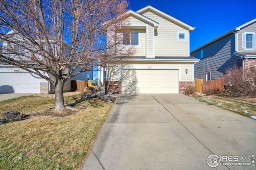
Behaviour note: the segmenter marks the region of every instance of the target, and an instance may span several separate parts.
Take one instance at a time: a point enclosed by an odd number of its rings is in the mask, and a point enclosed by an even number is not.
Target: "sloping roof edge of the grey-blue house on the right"
[[[218,36],[217,38],[213,39],[212,41],[209,41],[208,43],[205,43],[204,45],[201,45],[200,47],[198,47],[198,48],[194,49],[193,51],[191,51],[190,54],[198,51],[199,49],[204,48],[207,45],[210,45],[210,44],[214,43],[215,41],[218,41],[219,39],[221,39],[221,38],[223,38],[223,37],[225,37],[225,36],[227,36],[227,35],[229,35],[231,33],[235,33],[235,31],[240,31],[242,28],[247,27],[248,25],[250,25],[250,24],[252,24],[254,22],[256,22],[256,18],[251,20],[251,21],[249,21],[249,22],[244,23],[243,25],[240,25],[239,27],[235,27],[235,28],[231,29],[230,31],[228,31],[228,32]]]

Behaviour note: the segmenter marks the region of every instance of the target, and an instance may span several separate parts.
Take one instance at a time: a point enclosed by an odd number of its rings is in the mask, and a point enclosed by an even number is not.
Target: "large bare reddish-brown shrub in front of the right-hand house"
[[[226,88],[240,96],[256,97],[256,68],[237,68],[236,66],[226,69]]]

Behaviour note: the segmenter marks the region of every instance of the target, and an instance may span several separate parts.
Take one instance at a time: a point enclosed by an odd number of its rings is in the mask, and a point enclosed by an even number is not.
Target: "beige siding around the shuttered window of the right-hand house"
[[[254,50],[244,50],[242,49],[242,33],[244,32],[254,32],[256,33],[256,22],[252,23],[248,27],[242,28],[240,31],[238,31],[238,52],[240,53],[255,53],[256,49]]]

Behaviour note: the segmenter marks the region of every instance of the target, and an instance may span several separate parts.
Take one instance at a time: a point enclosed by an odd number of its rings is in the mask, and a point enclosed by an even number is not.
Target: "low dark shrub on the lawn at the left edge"
[[[3,119],[0,119],[0,124],[2,123],[8,123],[11,121],[20,121],[26,119],[29,115],[20,114],[18,111],[8,111],[5,113],[2,113]]]

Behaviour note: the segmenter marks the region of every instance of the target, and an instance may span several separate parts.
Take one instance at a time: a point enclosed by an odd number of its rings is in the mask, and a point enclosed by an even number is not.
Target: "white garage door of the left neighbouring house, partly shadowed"
[[[40,93],[40,82],[28,72],[0,72],[1,93]]]

